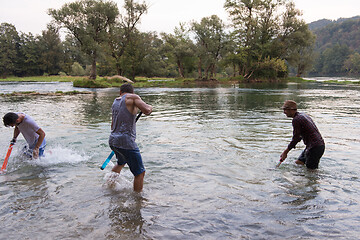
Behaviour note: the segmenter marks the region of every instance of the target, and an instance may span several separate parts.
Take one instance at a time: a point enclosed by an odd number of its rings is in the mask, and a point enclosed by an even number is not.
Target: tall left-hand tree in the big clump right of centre
[[[243,77],[250,78],[269,52],[269,40],[274,38],[277,29],[276,7],[281,4],[271,0],[225,1],[224,7],[235,29],[233,34],[239,39],[237,55]]]

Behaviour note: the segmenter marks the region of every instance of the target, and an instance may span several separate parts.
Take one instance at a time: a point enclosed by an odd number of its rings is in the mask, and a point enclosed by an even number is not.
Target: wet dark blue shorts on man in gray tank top
[[[127,164],[134,176],[145,172],[145,167],[142,162],[140,150],[138,148],[122,149],[114,146],[110,146],[110,148],[115,152],[118,165],[121,166]]]

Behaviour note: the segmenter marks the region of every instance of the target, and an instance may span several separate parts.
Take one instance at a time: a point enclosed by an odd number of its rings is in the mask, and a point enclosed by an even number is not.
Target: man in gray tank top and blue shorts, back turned
[[[145,168],[140,150],[135,143],[136,139],[136,114],[140,110],[145,115],[150,115],[152,106],[146,104],[138,95],[134,94],[131,84],[120,87],[120,97],[114,100],[111,107],[112,121],[109,137],[110,148],[115,152],[117,165],[112,171],[120,173],[128,164],[134,175],[134,191],[141,192],[144,184]]]

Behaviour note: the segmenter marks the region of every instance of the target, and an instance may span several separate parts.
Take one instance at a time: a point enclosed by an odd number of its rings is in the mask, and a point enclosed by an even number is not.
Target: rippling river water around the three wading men
[[[23,84],[23,85],[21,85]],[[71,83],[1,83],[2,93],[72,91]],[[80,89],[82,90],[82,89]],[[125,167],[109,185],[107,139],[118,89],[71,96],[0,96],[47,134],[46,156],[22,157],[19,136],[0,174],[0,239],[357,239],[360,87],[326,83],[143,88],[153,105],[137,123],[146,167],[132,191]],[[326,152],[316,171],[296,166],[299,143],[280,107],[299,103]],[[0,128],[1,164],[12,128]],[[114,161],[114,159],[113,159]]]

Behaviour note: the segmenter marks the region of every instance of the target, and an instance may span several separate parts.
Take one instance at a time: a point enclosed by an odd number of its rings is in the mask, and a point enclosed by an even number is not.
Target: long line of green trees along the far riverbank
[[[141,32],[147,3],[79,0],[49,9],[41,35],[0,25],[0,76],[122,75],[213,79],[278,78],[311,67],[314,35],[289,0],[226,0],[232,25],[216,15],[173,33]],[[68,34],[61,40],[59,29]]]

